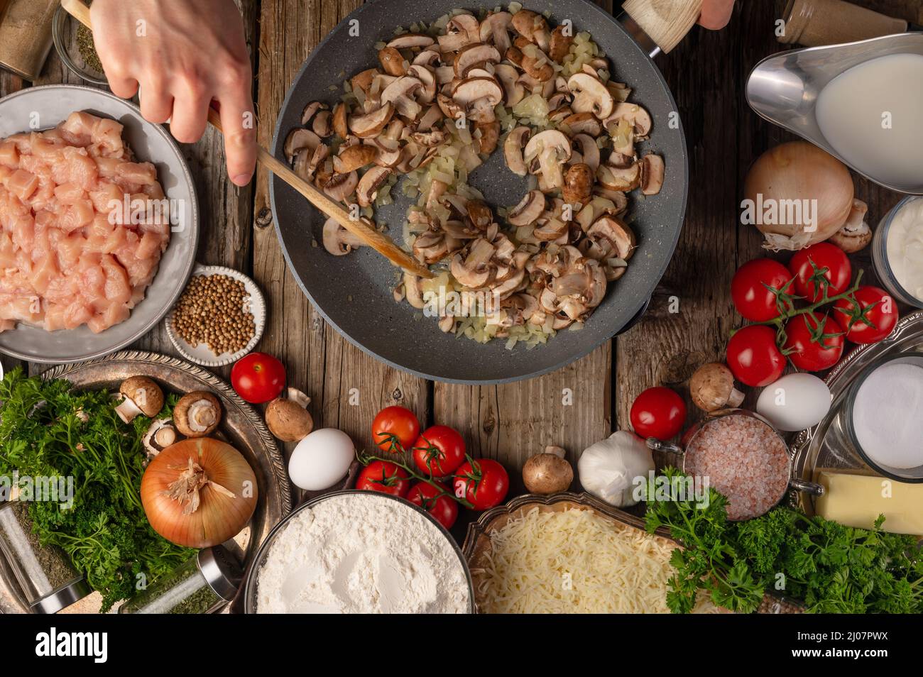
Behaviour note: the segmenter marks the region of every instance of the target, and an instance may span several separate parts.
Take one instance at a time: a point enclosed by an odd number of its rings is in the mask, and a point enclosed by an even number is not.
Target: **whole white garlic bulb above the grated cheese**
[[[617,507],[638,503],[635,478],[647,481],[651,470],[651,450],[641,437],[625,430],[590,445],[577,462],[583,489]]]

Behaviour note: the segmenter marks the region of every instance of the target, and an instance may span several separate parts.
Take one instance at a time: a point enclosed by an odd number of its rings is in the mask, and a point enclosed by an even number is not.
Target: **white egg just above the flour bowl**
[[[321,428],[294,447],[289,477],[308,492],[328,489],[341,481],[355,457],[353,440],[336,428]]]

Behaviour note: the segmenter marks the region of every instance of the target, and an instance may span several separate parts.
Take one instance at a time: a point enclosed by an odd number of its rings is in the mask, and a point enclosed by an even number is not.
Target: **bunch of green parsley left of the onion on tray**
[[[191,555],[151,529],[141,505],[150,419],[126,425],[105,390],[76,390],[21,369],[0,381],[0,402],[0,475],[74,478],[73,507],[34,501],[30,517],[42,544],[62,548],[102,593],[103,611]]]

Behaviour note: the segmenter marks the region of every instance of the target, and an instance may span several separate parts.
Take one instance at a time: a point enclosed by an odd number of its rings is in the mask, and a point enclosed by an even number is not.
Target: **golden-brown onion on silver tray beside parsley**
[[[257,507],[257,477],[233,446],[210,437],[163,449],[141,478],[150,526],[187,548],[233,538]]]

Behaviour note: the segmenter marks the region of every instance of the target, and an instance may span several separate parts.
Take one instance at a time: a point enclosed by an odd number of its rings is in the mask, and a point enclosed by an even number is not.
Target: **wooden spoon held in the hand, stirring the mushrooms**
[[[76,18],[80,23],[91,29],[90,26],[90,7],[84,5],[80,0],[61,0],[68,14]],[[223,133],[222,120],[215,109],[209,109],[209,122],[219,132]],[[365,221],[353,220],[349,212],[342,205],[334,202],[330,197],[325,196],[312,184],[307,183],[303,178],[298,176],[289,167],[282,164],[270,153],[269,150],[261,146],[257,147],[257,159],[270,172],[278,176],[286,184],[291,185],[296,191],[307,198],[307,201],[320,209],[327,216],[336,219],[347,231],[352,232],[357,238],[362,240],[368,246],[372,247],[378,254],[383,255],[392,264],[402,267],[404,270],[414,273],[421,278],[432,278],[433,273],[429,268],[417,261],[412,255],[401,249],[388,235],[378,232],[374,228],[366,225]]]

